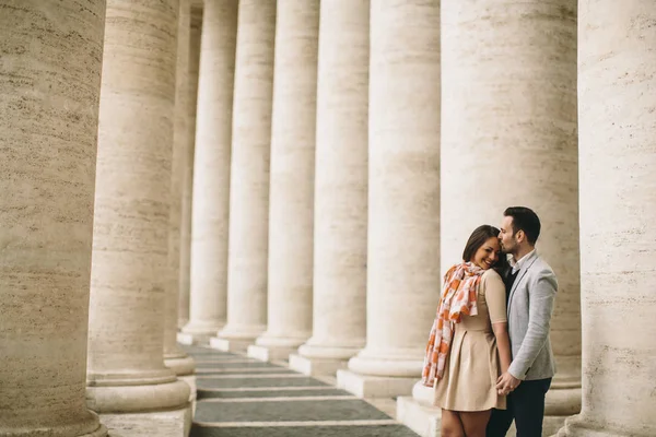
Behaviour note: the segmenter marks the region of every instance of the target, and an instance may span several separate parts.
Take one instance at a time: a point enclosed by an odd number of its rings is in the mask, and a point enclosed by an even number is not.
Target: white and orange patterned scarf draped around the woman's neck
[[[454,323],[459,323],[462,315],[478,315],[476,296],[483,272],[484,270],[480,267],[465,262],[452,267],[444,275],[442,297],[431,328],[421,375],[424,386],[433,387],[435,380],[440,380],[444,376]]]

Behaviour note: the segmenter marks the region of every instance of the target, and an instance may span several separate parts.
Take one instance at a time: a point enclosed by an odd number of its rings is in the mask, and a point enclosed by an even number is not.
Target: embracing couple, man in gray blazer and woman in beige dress
[[[473,231],[445,274],[422,374],[442,437],[503,437],[513,421],[517,437],[542,435],[558,283],[535,250],[539,235],[534,211],[508,208],[500,229]]]

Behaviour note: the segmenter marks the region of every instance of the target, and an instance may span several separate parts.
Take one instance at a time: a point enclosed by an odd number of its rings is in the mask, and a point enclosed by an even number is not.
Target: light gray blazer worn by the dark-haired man
[[[555,374],[549,328],[557,290],[553,270],[537,251],[522,261],[508,296],[508,334],[513,351],[508,371],[515,378],[546,379]]]

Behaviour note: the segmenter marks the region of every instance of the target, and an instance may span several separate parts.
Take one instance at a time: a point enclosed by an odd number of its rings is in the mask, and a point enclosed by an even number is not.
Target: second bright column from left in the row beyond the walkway
[[[269,156],[276,1],[241,0],[230,186],[227,324],[213,347],[245,351],[267,328]]]

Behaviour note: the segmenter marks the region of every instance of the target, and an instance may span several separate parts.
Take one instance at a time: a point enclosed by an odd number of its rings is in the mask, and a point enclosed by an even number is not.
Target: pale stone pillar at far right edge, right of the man
[[[655,21],[578,4],[583,405],[559,436],[656,435]]]

